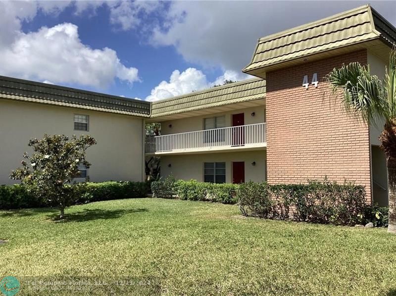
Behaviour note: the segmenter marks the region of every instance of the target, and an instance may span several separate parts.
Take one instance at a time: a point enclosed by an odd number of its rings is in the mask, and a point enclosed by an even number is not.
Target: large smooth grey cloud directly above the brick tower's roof
[[[241,72],[257,39],[365,4],[363,1],[174,1],[150,43],[189,62]],[[396,24],[396,2],[373,7]]]

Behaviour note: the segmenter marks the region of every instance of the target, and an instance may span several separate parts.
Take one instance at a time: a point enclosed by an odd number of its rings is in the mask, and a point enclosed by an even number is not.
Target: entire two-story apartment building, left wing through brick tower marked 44
[[[1,77],[0,184],[18,166],[27,139],[92,134],[92,181],[143,180],[145,157],[161,175],[204,182],[299,183],[308,179],[365,186],[387,203],[379,127],[348,115],[323,80],[353,61],[383,77],[396,29],[369,5],[260,38],[243,70],[256,78],[154,101]],[[145,139],[145,123],[161,135]],[[83,129],[83,130],[81,130]]]

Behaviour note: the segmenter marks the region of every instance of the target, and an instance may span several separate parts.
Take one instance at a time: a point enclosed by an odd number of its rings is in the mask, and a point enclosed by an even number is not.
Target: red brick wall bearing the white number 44
[[[268,182],[307,179],[355,181],[371,197],[369,129],[348,116],[331,95],[323,77],[334,67],[367,63],[366,50],[306,62],[267,73]],[[311,85],[317,73],[319,85]],[[302,87],[308,75],[309,88]]]

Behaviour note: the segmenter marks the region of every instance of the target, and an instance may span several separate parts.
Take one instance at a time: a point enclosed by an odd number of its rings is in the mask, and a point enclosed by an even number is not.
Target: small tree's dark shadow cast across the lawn
[[[136,208],[136,209],[117,209],[117,210],[103,210],[103,209],[84,209],[79,212],[66,213],[65,218],[62,222],[84,222],[98,219],[115,219],[122,217],[126,214],[148,212],[146,208]],[[59,221],[59,214],[51,214],[48,216],[49,219],[53,221]]]

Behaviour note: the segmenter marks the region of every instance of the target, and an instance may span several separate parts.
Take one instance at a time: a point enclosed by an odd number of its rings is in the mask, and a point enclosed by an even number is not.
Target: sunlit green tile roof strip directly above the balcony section
[[[151,117],[265,98],[265,80],[253,78],[200,92],[152,102]]]

